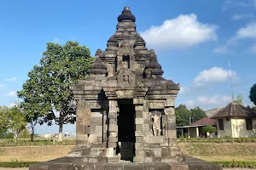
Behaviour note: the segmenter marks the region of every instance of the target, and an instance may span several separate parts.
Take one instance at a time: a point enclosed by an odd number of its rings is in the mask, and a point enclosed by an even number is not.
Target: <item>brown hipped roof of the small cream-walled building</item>
[[[256,117],[256,111],[248,109],[243,105],[230,103],[221,110],[217,111],[211,119],[223,118],[228,116]]]

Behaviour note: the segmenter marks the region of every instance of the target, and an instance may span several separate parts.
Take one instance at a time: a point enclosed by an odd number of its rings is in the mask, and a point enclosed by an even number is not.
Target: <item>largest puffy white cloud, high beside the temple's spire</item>
[[[141,32],[148,46],[162,48],[187,48],[201,42],[215,41],[218,26],[203,24],[195,14],[181,14],[165,20],[161,26],[152,26]]]

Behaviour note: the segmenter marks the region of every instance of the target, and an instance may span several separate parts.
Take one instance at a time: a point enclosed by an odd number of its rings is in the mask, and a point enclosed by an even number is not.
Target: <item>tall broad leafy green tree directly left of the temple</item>
[[[23,89],[18,92],[20,98],[28,99],[24,103],[31,114],[38,114],[48,125],[55,122],[59,126],[60,141],[63,125],[75,122],[76,103],[70,86],[87,77],[92,60],[90,49],[79,46],[79,42],[67,42],[63,46],[49,42],[40,65],[31,71],[36,78],[29,77],[26,82],[31,82],[31,86],[26,86],[25,82]],[[36,95],[29,96],[30,92]],[[41,105],[38,106],[33,99],[39,100]],[[42,111],[32,113],[34,105],[37,109],[41,107]]]

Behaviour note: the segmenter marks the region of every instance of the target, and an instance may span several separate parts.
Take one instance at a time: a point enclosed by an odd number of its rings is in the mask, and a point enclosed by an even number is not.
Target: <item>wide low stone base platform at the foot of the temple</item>
[[[193,157],[186,156],[183,162],[170,162],[172,157],[135,157],[134,163],[106,163],[100,161],[98,162],[84,162],[83,158],[69,158],[66,157],[55,159],[52,161],[45,161],[43,163],[38,163],[29,167],[30,170],[125,170],[125,169],[142,169],[142,170],[222,170],[217,164],[208,163],[207,161],[202,161]],[[116,161],[116,157],[108,158],[109,161]],[[153,163],[154,160],[154,163]],[[169,162],[160,162],[160,161]],[[144,163],[141,163],[141,162]],[[159,162],[157,162],[159,161]],[[137,163],[136,163],[137,162]]]

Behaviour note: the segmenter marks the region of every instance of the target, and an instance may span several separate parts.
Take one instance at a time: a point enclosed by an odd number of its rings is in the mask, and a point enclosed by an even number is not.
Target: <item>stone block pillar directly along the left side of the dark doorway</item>
[[[107,154],[108,162],[119,162],[119,156],[116,156],[117,147],[117,114],[119,111],[118,102],[115,100],[109,100],[109,112],[108,112],[108,148]]]

